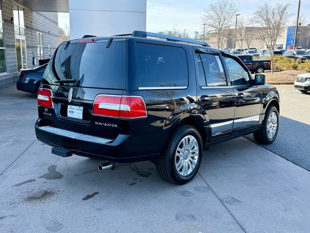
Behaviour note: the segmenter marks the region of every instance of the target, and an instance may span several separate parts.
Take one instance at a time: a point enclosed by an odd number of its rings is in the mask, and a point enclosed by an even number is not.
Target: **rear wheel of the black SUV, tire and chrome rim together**
[[[188,147],[186,147],[186,142]],[[185,148],[187,149],[184,152]],[[190,151],[189,148],[195,151]],[[158,174],[165,181],[185,184],[195,177],[201,161],[202,138],[199,132],[190,125],[182,125],[172,133],[165,150],[155,161],[155,165]],[[177,165],[180,165],[179,169]]]

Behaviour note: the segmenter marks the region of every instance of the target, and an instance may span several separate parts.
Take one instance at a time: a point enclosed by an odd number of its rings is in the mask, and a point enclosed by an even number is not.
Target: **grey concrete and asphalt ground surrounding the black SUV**
[[[274,144],[212,146],[183,186],[150,162],[99,172],[98,161],[51,154],[35,138],[36,96],[0,90],[0,232],[308,233],[310,94],[277,87]]]

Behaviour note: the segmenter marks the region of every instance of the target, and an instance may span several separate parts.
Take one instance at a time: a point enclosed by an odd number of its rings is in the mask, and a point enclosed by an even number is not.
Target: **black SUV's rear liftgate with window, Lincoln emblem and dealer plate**
[[[125,134],[118,117],[93,112],[96,96],[109,102],[126,85],[126,41],[115,39],[107,46],[108,41],[82,39],[59,46],[42,79],[41,86],[52,90],[54,108],[41,107],[45,124],[111,139]],[[112,112],[117,103],[106,105]]]

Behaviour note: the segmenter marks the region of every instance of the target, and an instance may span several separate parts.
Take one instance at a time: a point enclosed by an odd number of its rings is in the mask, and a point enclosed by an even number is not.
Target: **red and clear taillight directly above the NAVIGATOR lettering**
[[[93,114],[127,119],[147,116],[140,96],[98,95],[93,104]]]

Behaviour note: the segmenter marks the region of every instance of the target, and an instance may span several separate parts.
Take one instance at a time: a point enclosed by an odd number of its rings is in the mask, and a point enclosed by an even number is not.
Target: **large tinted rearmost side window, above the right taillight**
[[[139,87],[187,87],[185,50],[137,43]]]

